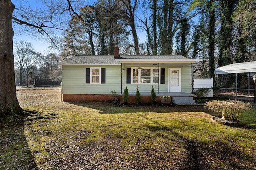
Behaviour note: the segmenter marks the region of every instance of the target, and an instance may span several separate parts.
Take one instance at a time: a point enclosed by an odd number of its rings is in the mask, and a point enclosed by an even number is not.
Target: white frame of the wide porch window
[[[143,67],[143,69],[150,69],[150,83],[142,83],[141,80],[140,80],[140,76],[141,76],[141,71],[138,71],[138,83],[134,83],[133,82],[133,70],[134,69],[138,69],[138,67],[131,67],[131,84],[156,84],[154,83],[154,70],[158,70],[158,68],[155,68],[155,67]],[[157,84],[160,84],[160,73],[161,72],[161,68],[159,67],[159,70],[158,70],[158,83]]]

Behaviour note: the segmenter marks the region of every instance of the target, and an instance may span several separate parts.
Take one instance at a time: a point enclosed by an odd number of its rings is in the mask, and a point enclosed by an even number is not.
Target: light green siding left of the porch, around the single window
[[[120,66],[100,66],[106,68],[105,84],[86,83],[86,68],[95,66],[62,65],[62,94],[110,94],[121,92]]]

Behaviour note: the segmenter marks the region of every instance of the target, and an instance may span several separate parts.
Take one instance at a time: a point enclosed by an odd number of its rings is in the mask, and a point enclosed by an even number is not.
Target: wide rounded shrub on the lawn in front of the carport
[[[242,117],[241,113],[243,111],[250,109],[250,103],[238,100],[213,100],[212,102],[207,102],[206,107],[209,110],[216,111],[220,117],[222,116],[222,119],[236,121],[238,118]]]

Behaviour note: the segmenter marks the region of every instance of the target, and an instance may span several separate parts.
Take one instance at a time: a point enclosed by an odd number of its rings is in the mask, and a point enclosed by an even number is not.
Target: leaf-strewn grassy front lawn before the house
[[[256,168],[255,106],[237,128],[212,123],[216,114],[204,106],[66,103],[60,90],[20,91],[18,100],[38,113],[16,125],[21,139],[5,147],[13,128],[1,125],[0,169],[10,168],[12,157],[26,164],[25,153],[31,168],[43,169]]]

